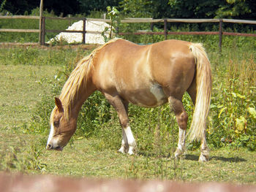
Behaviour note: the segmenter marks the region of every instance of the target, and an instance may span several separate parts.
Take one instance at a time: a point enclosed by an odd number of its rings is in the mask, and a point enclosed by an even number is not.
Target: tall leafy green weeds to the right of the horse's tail
[[[236,56],[216,71],[215,75],[222,78],[214,80],[211,100],[214,128],[209,128],[208,137],[217,146],[244,146],[255,150],[255,58],[247,54]]]

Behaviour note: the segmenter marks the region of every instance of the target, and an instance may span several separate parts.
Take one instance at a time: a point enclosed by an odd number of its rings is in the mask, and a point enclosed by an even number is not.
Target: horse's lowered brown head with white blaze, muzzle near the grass
[[[50,116],[50,134],[46,149],[63,150],[69,142],[69,139],[75,133],[76,120],[65,118],[64,108],[59,98],[55,98],[56,107]]]

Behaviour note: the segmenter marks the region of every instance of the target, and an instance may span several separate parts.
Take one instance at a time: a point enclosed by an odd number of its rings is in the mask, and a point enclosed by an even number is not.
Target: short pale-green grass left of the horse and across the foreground
[[[129,156],[117,153],[118,148],[105,147],[108,138],[99,136],[75,136],[62,153],[45,150],[48,135],[28,133],[26,127],[30,126],[42,96],[52,96],[54,76],[63,69],[63,63],[77,61],[87,50],[31,48],[27,49],[27,57],[20,55],[19,61],[13,58],[13,54],[21,54],[18,49],[21,48],[0,49],[1,61],[5,62],[0,64],[0,170],[72,177],[256,184],[256,152],[244,147],[211,148],[211,161],[205,164],[197,162],[198,149],[187,150],[187,155],[179,161],[172,158],[174,148],[167,155],[141,150],[138,155]],[[31,53],[34,58],[28,57]],[[211,61],[219,62],[209,55]],[[214,75],[218,73],[214,70]],[[119,133],[116,142],[121,144],[121,128],[115,128],[111,131]],[[135,135],[135,139],[141,137]]]

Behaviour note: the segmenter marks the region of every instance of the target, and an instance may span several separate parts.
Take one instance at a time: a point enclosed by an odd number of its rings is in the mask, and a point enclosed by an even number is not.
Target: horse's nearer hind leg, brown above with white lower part
[[[184,106],[181,100],[170,96],[168,98],[170,107],[173,109],[173,112],[176,115],[176,120],[178,123],[178,147],[175,152],[175,157],[178,158],[184,153],[185,150],[185,139],[186,139],[186,130],[187,130],[187,112],[184,109]]]

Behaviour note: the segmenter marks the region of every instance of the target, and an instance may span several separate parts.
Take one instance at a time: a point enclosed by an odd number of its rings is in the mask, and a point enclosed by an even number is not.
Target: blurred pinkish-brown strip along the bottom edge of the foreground
[[[256,185],[231,185],[227,183],[181,183],[170,180],[93,180],[86,178],[55,177],[50,175],[24,175],[1,172],[0,191],[214,191],[252,192]]]

